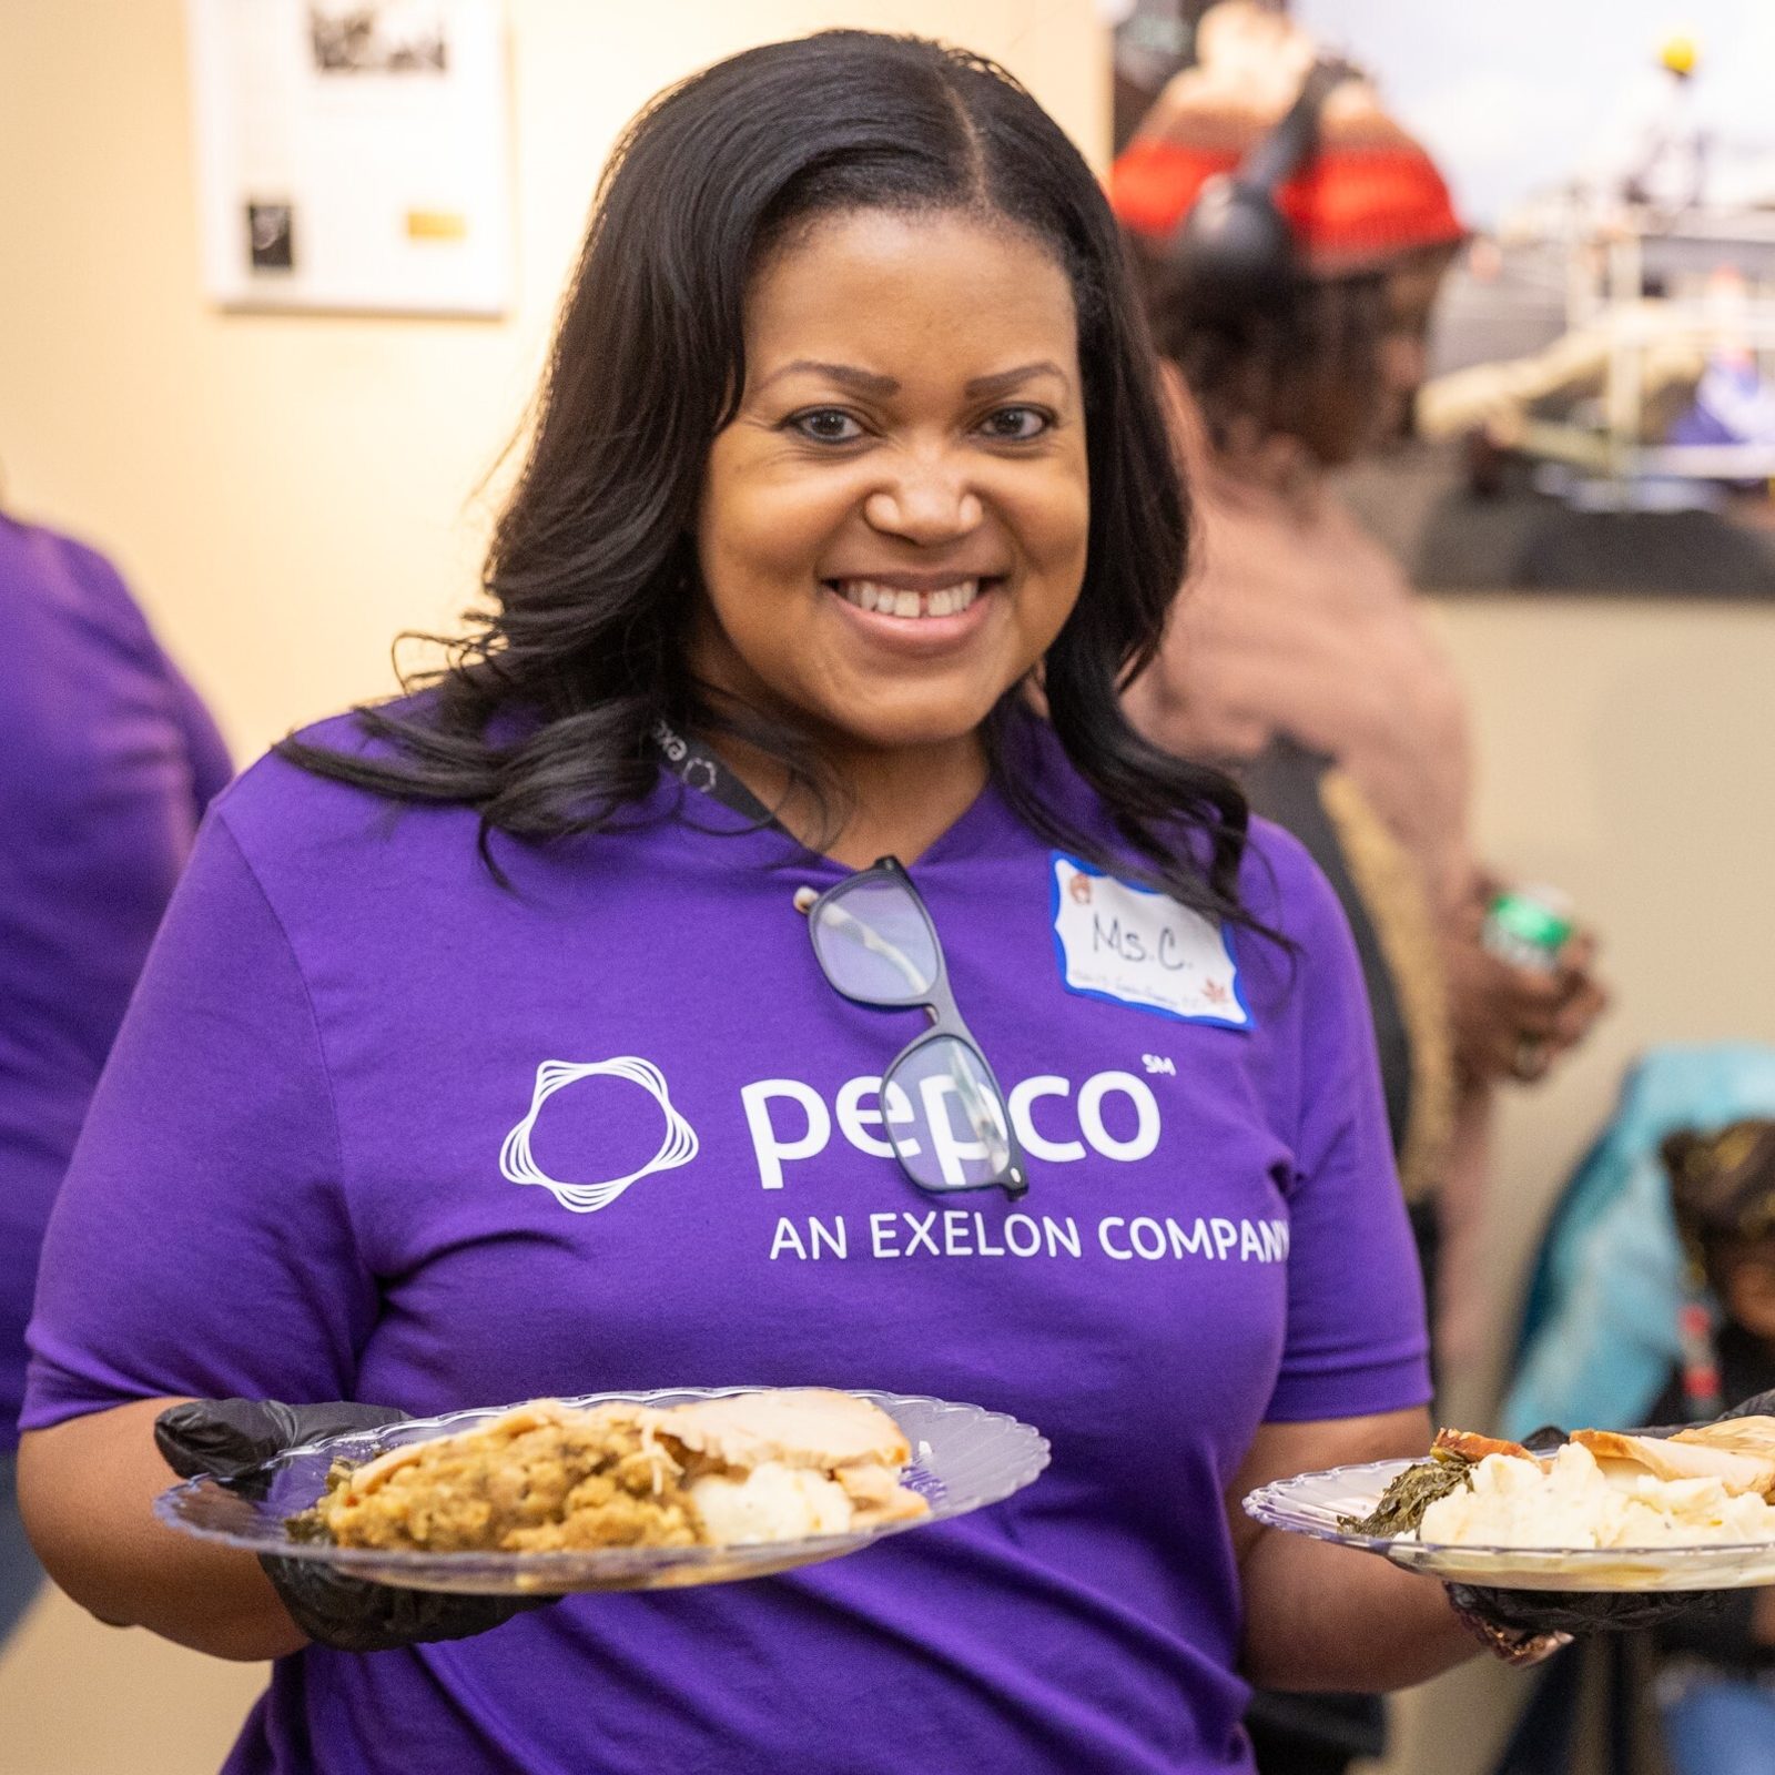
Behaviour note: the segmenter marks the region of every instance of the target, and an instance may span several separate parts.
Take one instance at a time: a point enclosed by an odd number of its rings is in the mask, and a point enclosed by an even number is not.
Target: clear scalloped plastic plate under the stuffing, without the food
[[[584,1393],[566,1404],[596,1406],[623,1399],[648,1406],[682,1406],[696,1399],[724,1399],[758,1390],[683,1386],[650,1393]],[[813,1566],[840,1553],[854,1553],[907,1528],[943,1523],[987,1503],[998,1503],[1021,1491],[1047,1466],[1047,1440],[1028,1424],[1019,1424],[999,1411],[861,1388],[857,1397],[873,1400],[905,1432],[905,1440],[912,1445],[912,1463],[902,1479],[930,1505],[928,1516],[857,1534],[724,1548],[414,1553],[335,1548],[325,1541],[289,1537],[284,1519],[305,1511],[327,1489],[327,1471],[334,1461],[369,1461],[385,1448],[472,1431],[513,1409],[511,1406],[451,1411],[437,1418],[408,1418],[403,1424],[350,1436],[328,1436],[325,1441],[305,1443],[270,1461],[252,1475],[247,1489],[215,1479],[188,1479],[154,1500],[154,1514],[202,1541],[245,1548],[248,1553],[318,1560],[357,1578],[398,1583],[410,1590],[564,1596],[572,1590],[659,1590],[690,1583],[728,1583],[735,1578],[761,1578],[774,1571],[788,1571],[793,1566]]]

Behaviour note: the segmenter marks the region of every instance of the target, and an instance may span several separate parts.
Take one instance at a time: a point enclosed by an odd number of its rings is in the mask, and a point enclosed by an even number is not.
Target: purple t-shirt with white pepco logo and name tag
[[[1051,740],[1031,767],[1104,825]],[[229,1770],[1250,1768],[1223,1491],[1266,1418],[1429,1392],[1337,902],[1262,829],[1246,891],[1299,950],[1221,966],[989,790],[912,877],[1031,1186],[935,1200],[875,1095],[921,1015],[825,985],[793,895],[845,872],[740,824],[662,779],[628,831],[495,841],[504,889],[470,813],[248,772],[59,1202],[27,1424],[879,1386],[1010,1411],[1053,1466],[781,1578],[286,1658]]]

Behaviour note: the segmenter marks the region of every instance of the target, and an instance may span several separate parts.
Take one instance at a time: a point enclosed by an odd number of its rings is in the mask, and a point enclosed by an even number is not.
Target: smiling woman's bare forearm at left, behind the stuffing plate
[[[154,1495],[174,1471],[154,1418],[176,1399],[71,1418],[20,1447],[25,1528],[50,1576],[99,1621],[149,1628],[215,1658],[279,1658],[307,1644],[250,1553],[167,1528]]]

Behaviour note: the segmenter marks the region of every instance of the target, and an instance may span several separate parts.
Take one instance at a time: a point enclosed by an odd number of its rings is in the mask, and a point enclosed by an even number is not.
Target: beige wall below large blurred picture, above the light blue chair
[[[1486,852],[1576,898],[1615,989],[1589,1047],[1503,1102],[1493,1287],[1512,1306],[1622,1069],[1656,1042],[1775,1042],[1775,609],[1447,598],[1436,619],[1471,692]]]

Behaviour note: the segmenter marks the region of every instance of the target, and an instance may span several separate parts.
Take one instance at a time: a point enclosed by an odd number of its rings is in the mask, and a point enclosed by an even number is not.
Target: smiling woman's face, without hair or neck
[[[751,286],[746,375],[708,453],[692,666],[838,747],[971,735],[1085,577],[1067,275],[960,213],[820,218]]]

